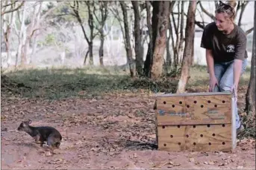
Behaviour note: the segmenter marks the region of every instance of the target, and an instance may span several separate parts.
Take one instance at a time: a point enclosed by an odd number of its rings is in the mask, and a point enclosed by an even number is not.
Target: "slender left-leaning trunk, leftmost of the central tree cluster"
[[[126,5],[124,1],[120,1],[122,7],[123,20],[125,25],[125,50],[128,59],[128,64],[130,66],[131,77],[136,76],[136,68],[134,67],[134,59],[132,59],[132,51],[131,51],[131,38],[129,32],[129,24],[128,24],[128,15],[126,10]]]

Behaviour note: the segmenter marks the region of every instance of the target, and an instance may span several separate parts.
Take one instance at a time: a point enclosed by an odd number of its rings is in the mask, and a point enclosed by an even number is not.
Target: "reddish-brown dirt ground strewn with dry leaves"
[[[255,169],[255,140],[233,152],[167,152],[155,145],[154,97],[111,94],[97,99],[1,97],[1,169]],[[63,136],[49,155],[23,131],[51,125]]]

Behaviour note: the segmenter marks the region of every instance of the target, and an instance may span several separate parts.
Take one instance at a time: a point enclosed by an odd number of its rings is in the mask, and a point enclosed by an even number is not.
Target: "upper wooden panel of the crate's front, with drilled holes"
[[[223,94],[159,97],[157,98],[157,125],[231,123],[231,107],[231,96]]]

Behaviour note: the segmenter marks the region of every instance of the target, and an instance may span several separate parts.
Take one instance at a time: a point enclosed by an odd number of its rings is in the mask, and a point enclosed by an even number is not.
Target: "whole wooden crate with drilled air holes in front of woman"
[[[163,94],[156,101],[158,149],[231,151],[236,147],[231,93]]]

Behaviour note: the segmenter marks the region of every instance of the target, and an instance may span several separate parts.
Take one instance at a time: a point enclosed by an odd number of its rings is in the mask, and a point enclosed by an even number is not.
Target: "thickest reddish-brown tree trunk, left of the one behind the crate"
[[[166,30],[168,28],[168,19],[170,12],[170,1],[153,1],[153,59],[152,68],[150,69],[150,77],[152,79],[158,79],[163,72],[163,54],[166,48]],[[157,15],[157,17],[154,17]]]

